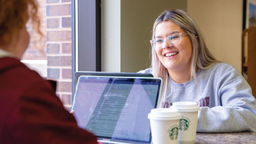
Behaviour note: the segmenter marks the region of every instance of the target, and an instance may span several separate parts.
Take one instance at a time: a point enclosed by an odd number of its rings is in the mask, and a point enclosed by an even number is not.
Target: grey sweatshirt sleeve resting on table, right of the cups
[[[218,99],[221,106],[200,107],[197,132],[256,132],[256,101],[243,78],[224,82]]]

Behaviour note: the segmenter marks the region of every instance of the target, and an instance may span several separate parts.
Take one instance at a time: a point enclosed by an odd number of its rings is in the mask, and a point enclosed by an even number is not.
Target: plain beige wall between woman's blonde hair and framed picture
[[[215,58],[241,72],[243,0],[188,0],[187,6]]]

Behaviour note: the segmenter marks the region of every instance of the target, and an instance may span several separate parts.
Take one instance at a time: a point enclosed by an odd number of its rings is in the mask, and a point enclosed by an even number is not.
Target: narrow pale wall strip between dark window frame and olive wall
[[[101,71],[120,72],[120,1],[101,1]]]

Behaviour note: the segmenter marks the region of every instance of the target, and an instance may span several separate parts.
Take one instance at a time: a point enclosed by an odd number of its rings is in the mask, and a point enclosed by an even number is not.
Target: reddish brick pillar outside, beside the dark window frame
[[[71,0],[46,0],[47,77],[57,81],[57,95],[69,111],[71,89]]]

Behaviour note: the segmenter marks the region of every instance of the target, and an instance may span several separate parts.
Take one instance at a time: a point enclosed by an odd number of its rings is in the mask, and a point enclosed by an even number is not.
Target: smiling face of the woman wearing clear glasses
[[[176,35],[177,33],[180,35]],[[160,41],[162,47],[160,47],[161,49],[156,49],[156,53],[168,71],[181,72],[185,69],[190,70],[192,45],[185,30],[171,21],[164,21],[156,26],[155,37],[164,39],[164,41]],[[165,40],[166,38],[169,38],[169,41]],[[173,45],[175,40],[180,43]]]

